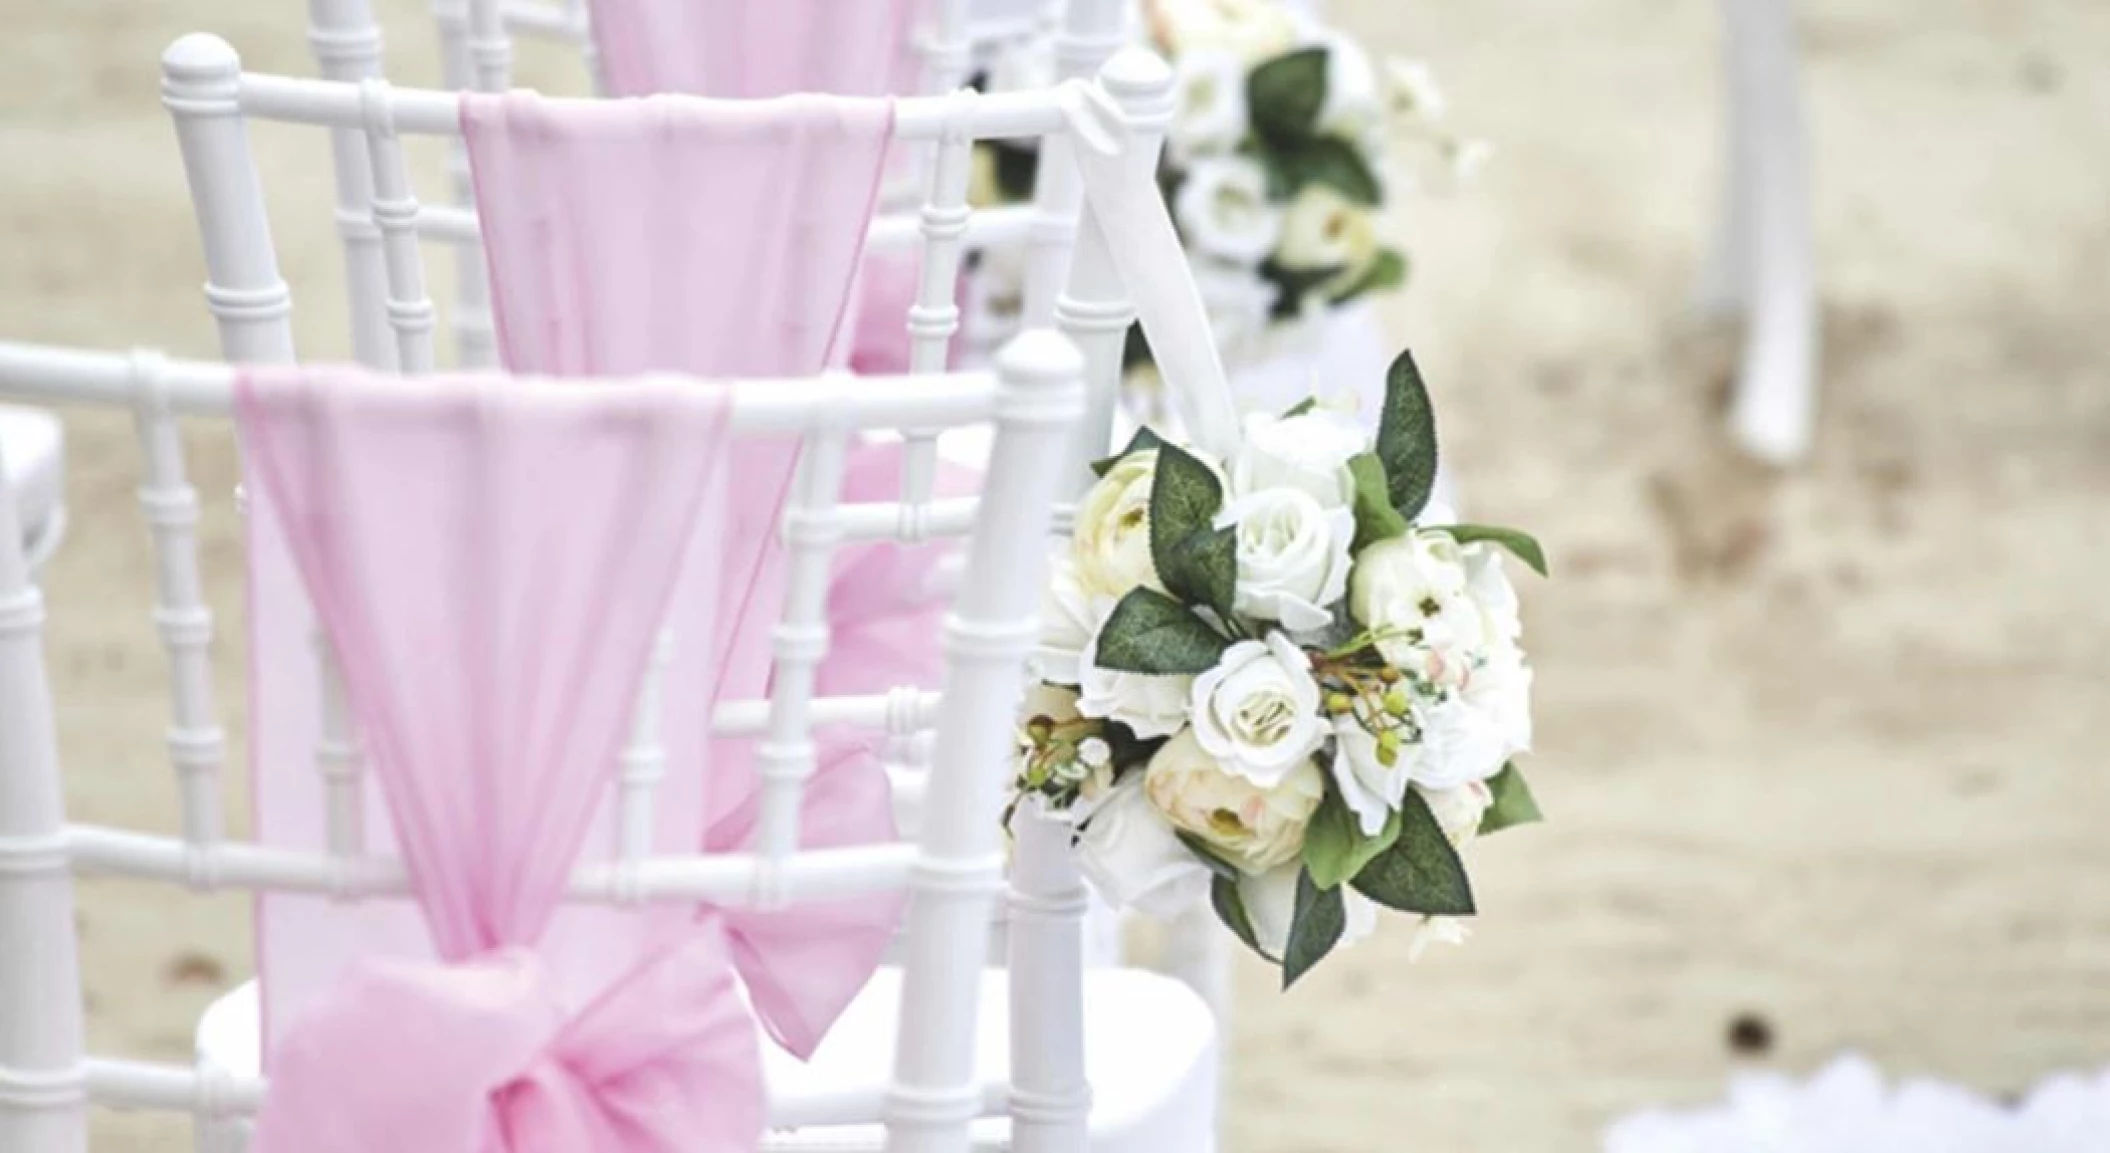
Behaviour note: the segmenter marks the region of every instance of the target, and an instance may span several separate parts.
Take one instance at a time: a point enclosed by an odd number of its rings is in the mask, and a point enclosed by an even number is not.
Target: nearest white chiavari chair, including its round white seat
[[[255,304],[251,298],[249,304]],[[251,308],[249,346],[285,344],[285,310]],[[266,336],[270,334],[270,336]],[[1209,1149],[1213,1026],[1167,978],[1125,969],[1078,974],[1082,887],[1070,830],[1025,813],[1015,826],[1009,904],[1013,963],[985,971],[985,923],[1004,887],[998,830],[1034,610],[1044,581],[1053,500],[1074,467],[1076,351],[1049,332],[1019,338],[994,374],[840,376],[732,382],[734,435],[804,437],[802,479],[785,509],[791,596],[776,629],[768,699],[726,701],[713,729],[757,733],[787,750],[764,771],[762,819],[749,853],[652,851],[582,864],[568,900],[745,902],[833,900],[907,889],[905,963],[876,980],[814,1062],[766,1066],[772,1147],[958,1151]],[[68,826],[42,659],[42,608],[15,545],[13,500],[0,500],[0,1149],[80,1153],[87,1109],[190,1113],[207,1149],[238,1149],[243,1117],[266,1094],[257,1020],[222,1001],[200,1031],[196,1066],[89,1056],[74,942],[74,874],[122,874],[192,889],[241,887],[331,893],[342,902],[401,900],[403,864],[369,853],[300,853],[230,840],[219,811],[222,735],[209,697],[211,617],[200,598],[196,494],[184,477],[177,416],[224,418],[230,365],[158,355],[97,355],[0,344],[0,397],[129,408],[141,429],[148,484],[141,505],[158,555],[156,621],[169,646],[171,756],[184,811],[179,836]],[[954,519],[968,536],[968,574],[945,631],[943,693],[918,695],[935,720],[928,809],[914,845],[800,849],[798,809],[810,731],[878,720],[890,697],[812,695],[825,661],[821,587],[831,549],[897,532],[916,519],[901,503],[838,505],[836,477],[852,433],[874,427],[996,424],[998,452],[979,507]],[[985,513],[985,515],[981,515]],[[644,693],[650,697],[650,691]],[[639,724],[654,707],[639,703]],[[804,760],[800,760],[804,756]],[[629,790],[618,777],[610,788]],[[340,798],[331,796],[331,805]],[[612,811],[629,815],[627,802]],[[382,819],[382,817],[376,817]],[[247,1007],[253,1014],[253,1003]],[[1091,1028],[1085,1028],[1085,1022]],[[890,1075],[888,1075],[890,1069]],[[1106,1096],[1093,1109],[1091,1085]],[[1156,1092],[1144,1092],[1146,1083]],[[1104,1140],[1101,1140],[1104,1138]]]

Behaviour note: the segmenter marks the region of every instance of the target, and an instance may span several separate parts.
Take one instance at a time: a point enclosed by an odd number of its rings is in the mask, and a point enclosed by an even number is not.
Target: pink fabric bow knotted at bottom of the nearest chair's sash
[[[523,948],[458,965],[376,961],[274,1054],[255,1142],[304,1153],[747,1153],[766,1121],[755,1041],[715,923],[578,1014],[565,1014]]]

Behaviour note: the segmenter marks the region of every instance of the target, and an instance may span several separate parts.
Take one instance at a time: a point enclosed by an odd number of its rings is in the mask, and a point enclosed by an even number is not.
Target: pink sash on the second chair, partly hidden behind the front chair
[[[511,367],[768,376],[814,372],[840,355],[890,103],[660,97],[578,106],[509,95],[466,99],[462,127]],[[656,323],[637,319],[648,310],[658,310]],[[686,581],[669,623],[677,640],[667,699],[682,726],[669,741],[669,773],[686,775],[709,750],[711,790],[688,843],[713,851],[747,845],[751,813],[738,813],[757,777],[749,741],[709,741],[701,724],[707,703],[760,697],[768,686],[783,560],[774,526],[793,456],[791,441],[734,450],[728,530],[715,547],[698,545],[709,555],[692,557],[724,579]],[[842,496],[895,498],[897,477],[899,450],[857,448]],[[937,650],[941,604],[922,593],[937,557],[937,547],[838,553],[840,576],[882,566],[899,581],[838,583],[823,693],[846,691],[844,678],[880,688],[937,684],[926,655]],[[728,642],[711,653],[686,644],[688,612],[732,621]],[[880,636],[914,642],[882,648],[871,640]],[[869,733],[823,735],[804,845],[895,836],[874,743]],[[774,1039],[793,1054],[812,1052],[878,965],[899,908],[899,900],[867,900],[726,914],[734,963]]]

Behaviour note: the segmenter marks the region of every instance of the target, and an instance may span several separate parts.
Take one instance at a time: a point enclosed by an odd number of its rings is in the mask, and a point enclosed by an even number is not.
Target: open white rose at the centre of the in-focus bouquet
[[[1194,741],[1226,773],[1281,783],[1325,741],[1310,657],[1283,634],[1241,640],[1194,678]]]

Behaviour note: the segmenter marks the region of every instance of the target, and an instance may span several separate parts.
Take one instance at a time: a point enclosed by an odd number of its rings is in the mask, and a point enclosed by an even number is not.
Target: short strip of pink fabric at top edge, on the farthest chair
[[[912,0],[593,0],[610,95],[884,95]]]

